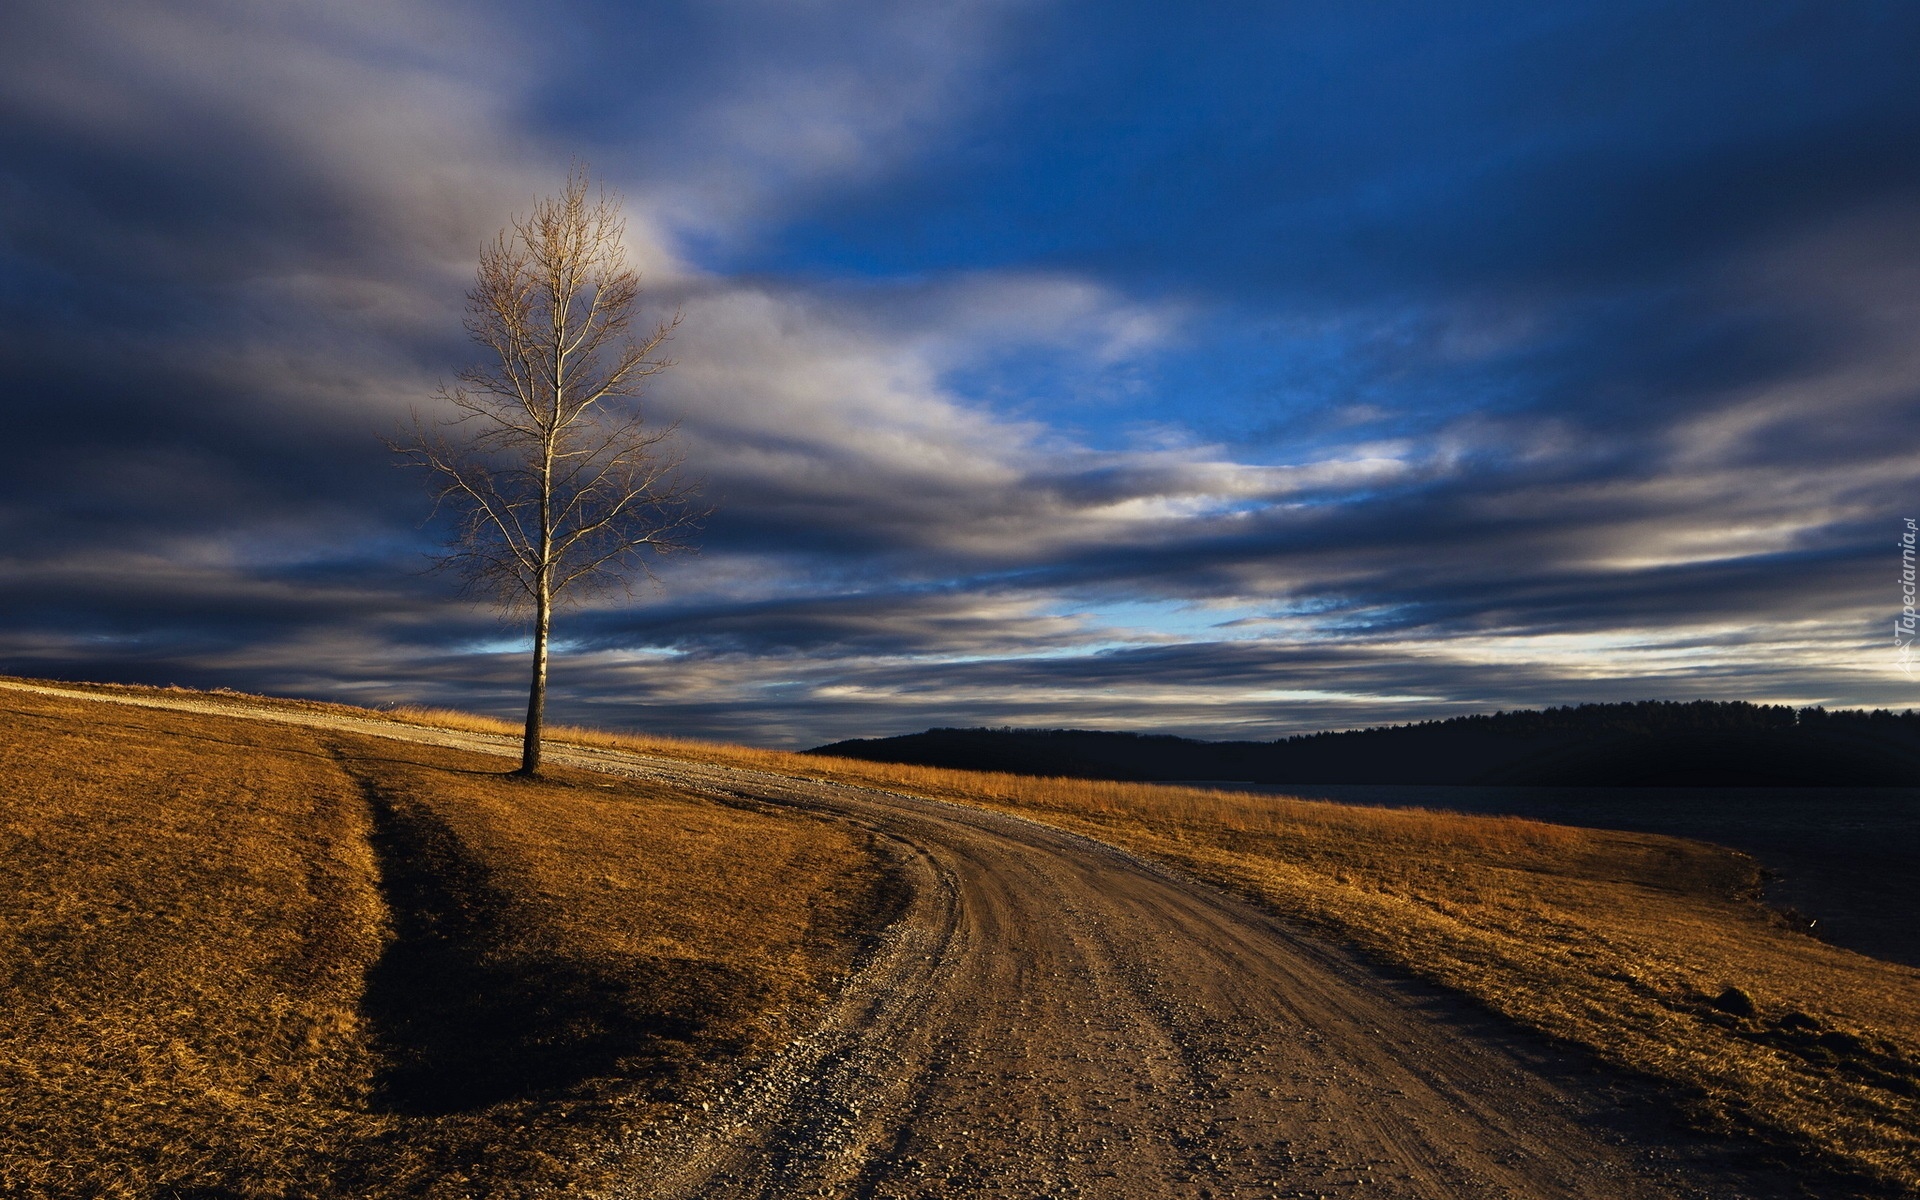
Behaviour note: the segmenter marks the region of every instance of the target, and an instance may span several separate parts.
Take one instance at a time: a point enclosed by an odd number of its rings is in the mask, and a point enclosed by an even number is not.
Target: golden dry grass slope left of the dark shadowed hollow
[[[280,1183],[367,1091],[363,804],[288,730],[4,705],[0,1190]]]

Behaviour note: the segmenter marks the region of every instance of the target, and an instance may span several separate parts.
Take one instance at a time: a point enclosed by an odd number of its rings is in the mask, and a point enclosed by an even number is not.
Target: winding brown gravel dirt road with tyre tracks
[[[854,822],[908,883],[818,1027],[607,1148],[636,1200],[1788,1194],[1672,1133],[1638,1087],[1112,847],[826,781],[549,756]]]

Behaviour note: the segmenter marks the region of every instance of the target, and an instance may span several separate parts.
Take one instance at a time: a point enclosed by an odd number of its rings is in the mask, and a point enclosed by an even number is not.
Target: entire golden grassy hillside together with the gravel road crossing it
[[[1920,1194],[1916,972],[1807,937],[1720,847],[589,730],[555,758],[628,776],[520,783],[478,753],[513,745],[488,718],[0,684],[4,1194],[601,1194],[616,1169],[618,1194],[716,1198],[1018,1171],[1060,1181],[1018,1194],[1160,1196],[1194,1169],[1325,1192],[1440,1160],[1517,1196]],[[866,831],[922,862],[899,906]],[[1432,1073],[1467,1043],[1534,1048]],[[791,1091],[710,1087],[774,1046],[826,1058]],[[1548,1087],[1572,1091],[1523,1104],[1563,1050]],[[1620,1108],[1590,1127],[1590,1102]],[[1382,1129],[1425,1150],[1382,1158]],[[755,1156],[774,1175],[737,1173]],[[755,1183],[795,1164],[837,1183]],[[1676,1187],[1626,1187],[1642,1167]],[[1465,1175],[1432,1179],[1409,1194]]]

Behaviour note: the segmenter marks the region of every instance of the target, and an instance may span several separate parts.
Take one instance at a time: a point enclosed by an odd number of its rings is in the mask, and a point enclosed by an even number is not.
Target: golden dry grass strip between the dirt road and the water
[[[1519,818],[557,737],[981,804],[1121,845],[1663,1079],[1707,1127],[1920,1192],[1920,972],[1788,927],[1736,851]]]

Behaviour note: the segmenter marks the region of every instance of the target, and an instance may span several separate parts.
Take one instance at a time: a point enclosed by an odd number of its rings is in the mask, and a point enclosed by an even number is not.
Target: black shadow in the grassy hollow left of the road
[[[543,948],[516,920],[524,906],[432,810],[361,787],[394,922],[363,996],[386,1058],[376,1110],[472,1112],[609,1075],[670,1083],[708,1041],[712,1002],[743,987],[708,964]]]

